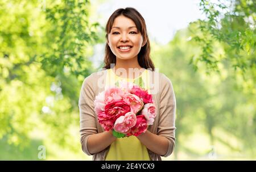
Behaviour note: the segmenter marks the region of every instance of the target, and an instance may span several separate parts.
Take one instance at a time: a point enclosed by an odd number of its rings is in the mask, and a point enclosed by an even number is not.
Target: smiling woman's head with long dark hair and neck
[[[110,64],[115,64],[115,68],[126,70],[128,67],[154,70],[146,23],[137,10],[116,10],[110,16],[105,31],[107,44],[104,68],[109,69]]]

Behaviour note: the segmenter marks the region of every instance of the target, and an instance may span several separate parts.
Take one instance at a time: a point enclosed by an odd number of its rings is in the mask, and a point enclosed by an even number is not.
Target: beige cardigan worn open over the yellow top
[[[166,75],[148,70],[150,74],[151,83],[154,87],[150,90],[153,100],[156,103],[156,118],[153,125],[148,127],[148,131],[164,136],[169,141],[169,148],[164,157],[171,155],[175,147],[175,114],[176,114],[176,98],[172,82]],[[94,111],[94,99],[98,93],[105,89],[105,78],[107,70],[92,73],[84,79],[82,83],[80,98],[79,98],[79,111],[80,111],[80,135],[82,150],[91,156],[89,153],[86,142],[90,135],[94,133],[104,132],[104,128],[98,123],[97,115]],[[152,86],[152,85],[151,85]],[[105,160],[106,153],[108,153],[110,145],[93,154],[93,160]],[[159,154],[155,154],[148,150],[150,159],[157,161],[161,160]]]

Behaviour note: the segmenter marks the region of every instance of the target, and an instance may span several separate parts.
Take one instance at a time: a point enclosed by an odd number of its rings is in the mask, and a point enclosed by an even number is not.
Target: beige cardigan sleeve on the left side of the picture
[[[90,76],[89,76],[90,77]],[[79,97],[79,112],[80,112],[80,141],[82,150],[87,155],[91,156],[87,148],[88,137],[97,133],[96,116],[94,115],[94,91],[93,83],[89,77],[84,79],[82,83]]]

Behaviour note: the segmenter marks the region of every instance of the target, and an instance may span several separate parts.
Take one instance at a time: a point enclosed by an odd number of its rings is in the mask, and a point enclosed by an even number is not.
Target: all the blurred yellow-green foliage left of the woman
[[[43,144],[80,148],[70,128],[79,130],[81,83],[95,70],[88,57],[98,23],[89,22],[89,7],[75,0],[0,2],[0,139],[12,148],[27,149],[32,133],[46,137]]]

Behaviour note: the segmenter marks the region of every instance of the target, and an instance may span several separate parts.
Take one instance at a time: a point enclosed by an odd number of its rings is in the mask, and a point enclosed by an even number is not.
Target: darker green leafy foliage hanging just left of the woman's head
[[[88,22],[89,2],[69,0],[52,1],[46,8],[48,30],[46,48],[39,61],[51,75],[71,73],[88,75],[90,61],[85,56],[92,51],[89,45],[97,41],[98,23]],[[52,65],[56,64],[56,65]]]

